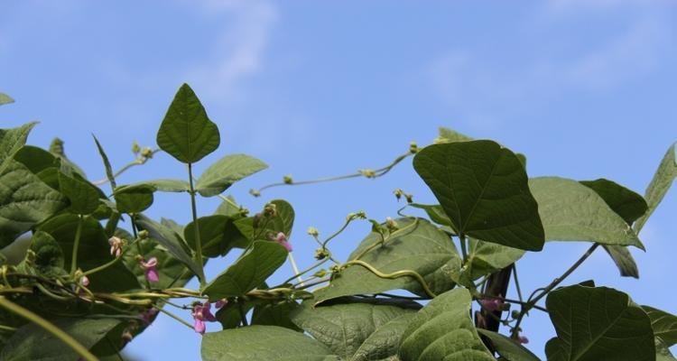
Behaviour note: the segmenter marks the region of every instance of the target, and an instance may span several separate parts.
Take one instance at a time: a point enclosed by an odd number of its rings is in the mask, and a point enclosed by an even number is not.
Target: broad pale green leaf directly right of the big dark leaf
[[[635,232],[597,192],[576,180],[540,177],[529,180],[548,241],[590,241],[602,245],[635,245]]]

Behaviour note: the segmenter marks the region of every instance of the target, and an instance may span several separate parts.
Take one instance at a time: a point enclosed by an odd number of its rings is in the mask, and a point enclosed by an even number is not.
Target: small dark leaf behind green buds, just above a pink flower
[[[271,200],[270,204],[274,205],[277,216],[268,220],[263,218],[259,222],[258,227],[255,227],[254,217],[241,218],[235,221],[237,229],[239,229],[240,233],[247,239],[252,241],[255,241],[256,239],[267,240],[270,239],[271,236],[277,235],[278,232],[282,232],[287,236],[287,239],[292,236],[292,227],[295,217],[292,205],[283,199]]]

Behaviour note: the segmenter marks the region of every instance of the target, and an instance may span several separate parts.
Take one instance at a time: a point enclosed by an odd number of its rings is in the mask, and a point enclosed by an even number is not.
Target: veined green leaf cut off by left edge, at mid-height
[[[20,162],[0,174],[0,247],[67,206],[67,200]]]

